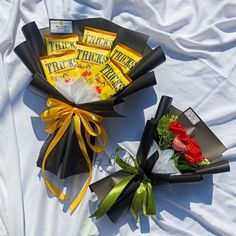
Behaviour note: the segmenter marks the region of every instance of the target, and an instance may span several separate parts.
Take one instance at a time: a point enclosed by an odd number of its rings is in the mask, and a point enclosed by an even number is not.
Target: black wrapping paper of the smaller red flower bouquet
[[[140,141],[140,145],[136,154],[136,159],[145,172],[146,176],[151,180],[152,185],[158,184],[177,184],[177,183],[192,183],[203,180],[205,174],[215,174],[229,171],[229,164],[226,160],[220,160],[220,155],[226,150],[224,145],[216,138],[216,136],[210,131],[210,129],[204,124],[204,122],[198,117],[199,121],[196,124],[189,124],[189,120],[180,110],[171,106],[172,98],[163,96],[159,103],[156,115],[151,120],[148,120],[143,131],[143,135]],[[188,109],[189,110],[189,109]],[[187,110],[187,111],[188,111]],[[192,111],[193,112],[193,111]],[[171,174],[171,173],[154,173],[152,169],[158,160],[158,152],[154,152],[148,158],[150,148],[153,141],[158,141],[157,124],[159,119],[166,114],[180,115],[180,122],[182,125],[188,124],[188,131],[195,132],[198,135],[198,140],[203,139],[204,146],[209,146],[207,150],[217,150],[214,152],[214,158],[210,159],[208,166],[200,167],[195,171],[189,171],[188,173],[182,174]],[[192,114],[192,113],[191,113]],[[187,121],[188,120],[188,121]],[[204,135],[206,134],[206,139]],[[211,155],[211,152],[206,153]],[[212,157],[212,156],[210,156]],[[92,192],[95,192],[100,201],[102,201],[112,188],[119,183],[122,179],[127,177],[129,173],[121,170],[113,173],[93,184],[90,185]],[[141,179],[135,177],[124,189],[122,194],[118,197],[117,201],[113,204],[112,208],[107,212],[108,217],[112,222],[116,222],[125,212],[129,209],[135,191],[139,187]],[[105,191],[104,191],[105,190]]]

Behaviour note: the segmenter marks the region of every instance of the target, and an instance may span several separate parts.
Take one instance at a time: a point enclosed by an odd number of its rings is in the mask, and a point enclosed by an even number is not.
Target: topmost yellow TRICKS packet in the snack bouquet
[[[116,36],[117,33],[85,26],[82,42],[111,49]]]

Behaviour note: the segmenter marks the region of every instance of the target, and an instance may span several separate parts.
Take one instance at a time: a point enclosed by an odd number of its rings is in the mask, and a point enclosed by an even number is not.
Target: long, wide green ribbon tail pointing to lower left
[[[116,184],[113,189],[108,193],[108,195],[103,199],[97,211],[93,213],[90,217],[96,217],[96,219],[101,218],[106,214],[112,205],[115,203],[117,198],[123,192],[127,184],[136,176],[136,174],[130,175],[122,179],[118,184]]]

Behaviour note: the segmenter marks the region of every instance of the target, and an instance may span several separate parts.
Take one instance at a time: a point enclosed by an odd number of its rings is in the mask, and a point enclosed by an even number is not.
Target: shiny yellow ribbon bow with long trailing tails
[[[46,187],[54,196],[56,196],[61,201],[65,201],[68,199],[68,196],[66,194],[64,194],[60,189],[58,189],[55,185],[53,185],[47,179],[47,176],[45,173],[45,166],[46,166],[46,162],[47,162],[47,158],[49,154],[51,153],[53,148],[57,145],[57,143],[60,141],[60,139],[63,137],[72,119],[75,124],[75,133],[77,136],[77,140],[78,140],[80,149],[83,153],[83,157],[86,160],[88,170],[89,170],[89,176],[88,176],[87,181],[85,182],[82,190],[76,196],[76,198],[72,201],[69,207],[72,213],[76,209],[76,207],[79,205],[81,200],[83,199],[92,179],[92,163],[90,161],[90,158],[86,149],[85,140],[88,146],[96,153],[102,152],[107,143],[106,131],[101,125],[103,117],[100,115],[88,112],[86,110],[73,107],[69,104],[61,102],[54,98],[48,98],[47,106],[49,107],[49,109],[45,110],[41,114],[41,120],[44,122],[48,122],[45,131],[48,134],[54,133],[57,129],[58,131],[56,135],[54,136],[53,140],[51,141],[51,143],[49,144],[45,152],[43,162],[42,162],[42,176],[43,176]],[[84,126],[85,140],[81,133],[81,125]],[[93,145],[90,141],[91,136],[101,137],[103,144],[97,145],[97,146]]]

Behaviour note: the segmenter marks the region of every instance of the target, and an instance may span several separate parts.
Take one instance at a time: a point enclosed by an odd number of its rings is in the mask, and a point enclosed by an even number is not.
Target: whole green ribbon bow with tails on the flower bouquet
[[[91,217],[96,217],[99,219],[104,214],[106,214],[109,209],[113,206],[117,198],[123,192],[128,183],[134,179],[135,176],[142,176],[142,180],[137,188],[134,198],[130,207],[130,211],[137,221],[139,209],[142,208],[143,214],[145,216],[155,215],[156,214],[156,201],[152,191],[152,184],[150,179],[146,176],[145,172],[140,167],[138,161],[129,154],[132,159],[134,166],[123,161],[118,153],[120,151],[124,151],[121,147],[118,147],[115,152],[115,161],[116,163],[126,172],[129,172],[130,175],[122,179],[118,184],[116,184],[112,190],[108,193],[108,195],[103,199],[101,204],[99,205],[97,211],[91,215]]]

